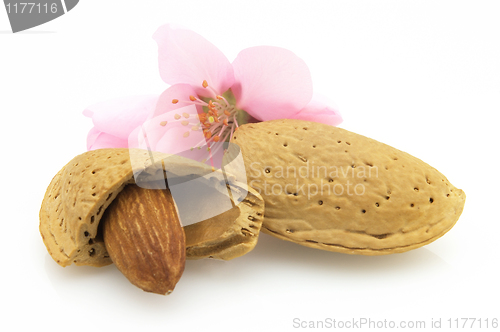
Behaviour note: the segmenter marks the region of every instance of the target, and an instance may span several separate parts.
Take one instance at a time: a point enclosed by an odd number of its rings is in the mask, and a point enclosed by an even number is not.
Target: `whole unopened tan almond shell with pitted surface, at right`
[[[404,252],[441,237],[464,207],[464,192],[433,167],[341,128],[275,120],[243,125],[233,138],[249,185],[265,200],[262,231],[304,246],[362,255]]]

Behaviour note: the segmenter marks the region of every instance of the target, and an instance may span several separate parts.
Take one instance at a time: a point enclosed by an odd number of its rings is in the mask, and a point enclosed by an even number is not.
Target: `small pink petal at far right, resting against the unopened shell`
[[[321,122],[331,126],[342,123],[342,116],[335,104],[325,96],[314,94],[312,100],[299,113],[288,117],[305,121]]]

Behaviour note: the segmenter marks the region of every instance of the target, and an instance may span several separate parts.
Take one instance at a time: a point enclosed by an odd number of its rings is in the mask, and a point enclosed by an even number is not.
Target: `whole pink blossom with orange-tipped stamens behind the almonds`
[[[103,108],[89,108],[86,115],[92,111],[95,125],[89,149],[127,146],[128,133],[129,147],[175,154],[203,146],[210,150],[211,144],[230,139],[239,124],[252,121],[342,122],[328,100],[313,96],[309,69],[288,50],[251,47],[230,63],[213,44],[184,28],[164,25],[153,38],[158,43],[161,78],[171,86],[147,119],[151,97],[122,106],[122,113],[108,105],[113,111],[106,111],[106,116],[99,114]],[[123,128],[116,129],[120,125]]]

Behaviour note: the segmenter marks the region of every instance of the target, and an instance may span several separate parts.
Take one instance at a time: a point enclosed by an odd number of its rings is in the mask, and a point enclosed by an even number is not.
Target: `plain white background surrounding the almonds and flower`
[[[0,8],[0,329],[291,331],[295,318],[428,328],[441,319],[444,329],[449,318],[481,318],[484,330],[500,318],[499,15],[498,1],[82,0],[12,34]],[[315,90],[338,104],[341,127],[423,159],[465,191],[456,226],[380,257],[262,235],[233,261],[188,261],[167,297],[135,288],[113,265],[58,266],[38,232],[47,185],[86,150],[86,106],[167,87],[151,36],[169,22],[230,61],[256,45],[295,52]]]

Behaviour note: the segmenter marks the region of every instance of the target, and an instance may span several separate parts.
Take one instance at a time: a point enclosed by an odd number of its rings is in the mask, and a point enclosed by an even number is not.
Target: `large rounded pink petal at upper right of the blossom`
[[[261,121],[290,117],[311,100],[309,68],[286,49],[247,48],[238,54],[233,68],[236,82],[231,90],[238,108]]]

